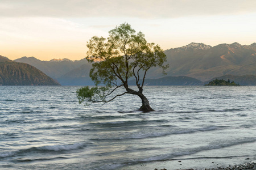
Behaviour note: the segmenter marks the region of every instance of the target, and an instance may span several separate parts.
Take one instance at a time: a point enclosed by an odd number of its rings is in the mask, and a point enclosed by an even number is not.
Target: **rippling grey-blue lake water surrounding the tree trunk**
[[[256,87],[145,87],[84,107],[68,86],[0,87],[0,169],[186,169],[256,159]],[[167,167],[169,166],[169,167]]]

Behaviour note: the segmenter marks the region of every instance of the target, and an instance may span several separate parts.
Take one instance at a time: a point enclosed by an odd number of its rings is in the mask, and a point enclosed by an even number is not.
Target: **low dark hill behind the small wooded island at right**
[[[204,84],[207,84],[214,79],[223,79],[226,81],[228,81],[229,79],[230,82],[234,81],[235,83],[240,84],[242,86],[256,86],[256,75],[224,75],[205,81]]]

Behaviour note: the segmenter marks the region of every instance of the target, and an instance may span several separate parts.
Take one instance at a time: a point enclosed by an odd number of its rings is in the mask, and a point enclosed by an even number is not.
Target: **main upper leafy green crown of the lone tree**
[[[127,23],[109,31],[108,39],[92,37],[88,44],[88,59],[93,63],[90,77],[96,84],[117,85],[117,80],[127,83],[131,76],[139,79],[151,67],[162,67],[166,55],[159,45],[147,43],[142,32],[136,33]]]

